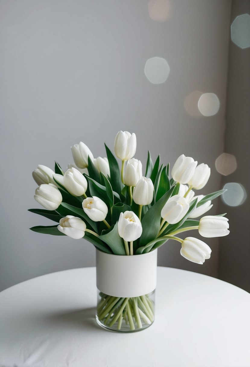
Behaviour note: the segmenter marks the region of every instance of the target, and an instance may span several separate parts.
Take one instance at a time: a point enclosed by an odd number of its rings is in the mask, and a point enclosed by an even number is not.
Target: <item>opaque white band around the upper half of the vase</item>
[[[96,286],[114,297],[139,297],[156,288],[157,249],[142,255],[111,255],[96,249]]]

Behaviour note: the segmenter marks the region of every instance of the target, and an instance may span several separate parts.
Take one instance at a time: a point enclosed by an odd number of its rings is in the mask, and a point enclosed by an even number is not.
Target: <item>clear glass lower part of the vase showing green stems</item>
[[[149,327],[155,317],[155,290],[138,297],[114,297],[98,290],[96,321],[103,328],[122,333]]]

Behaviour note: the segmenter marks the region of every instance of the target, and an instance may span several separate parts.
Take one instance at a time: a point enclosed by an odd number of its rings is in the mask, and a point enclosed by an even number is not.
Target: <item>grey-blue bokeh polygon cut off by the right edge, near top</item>
[[[231,25],[231,39],[240,48],[250,47],[250,15],[242,14]]]

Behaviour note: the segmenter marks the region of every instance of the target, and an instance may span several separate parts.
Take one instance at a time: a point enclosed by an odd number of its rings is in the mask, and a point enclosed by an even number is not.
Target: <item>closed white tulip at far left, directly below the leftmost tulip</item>
[[[62,203],[62,194],[52,183],[36,188],[34,199],[47,210],[56,210]]]

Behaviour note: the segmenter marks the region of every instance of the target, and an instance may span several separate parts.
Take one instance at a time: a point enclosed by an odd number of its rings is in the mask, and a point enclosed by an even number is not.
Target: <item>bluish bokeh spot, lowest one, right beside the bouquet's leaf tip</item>
[[[228,182],[223,189],[227,191],[222,194],[222,200],[228,206],[239,206],[246,200],[246,190],[240,183]]]

